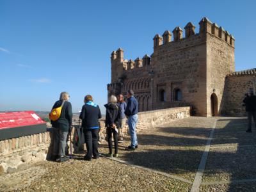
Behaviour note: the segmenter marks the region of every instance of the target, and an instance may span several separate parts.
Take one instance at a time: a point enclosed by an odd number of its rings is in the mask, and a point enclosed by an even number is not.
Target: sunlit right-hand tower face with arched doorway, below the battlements
[[[215,116],[220,115],[225,99],[223,97],[225,78],[235,71],[234,45],[225,38],[207,33],[207,116],[211,116],[211,96],[217,97]]]

